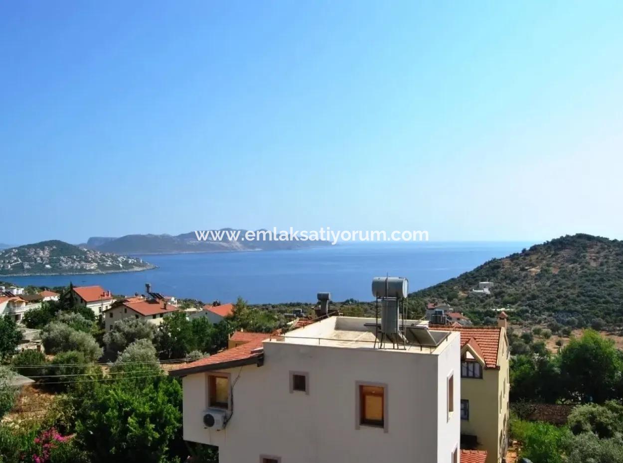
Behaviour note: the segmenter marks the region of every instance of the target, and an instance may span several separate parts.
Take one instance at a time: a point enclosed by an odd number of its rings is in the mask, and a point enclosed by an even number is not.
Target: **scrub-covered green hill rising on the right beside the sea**
[[[473,294],[492,281],[489,296]],[[490,260],[472,271],[410,294],[447,301],[464,311],[502,307],[519,319],[553,317],[569,326],[595,319],[623,325],[623,241],[578,234],[561,236],[521,253]]]

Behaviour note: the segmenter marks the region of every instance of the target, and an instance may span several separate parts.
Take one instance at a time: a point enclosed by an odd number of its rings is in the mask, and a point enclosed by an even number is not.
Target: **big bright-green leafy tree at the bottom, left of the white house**
[[[181,428],[182,390],[161,376],[134,388],[128,380],[96,384],[78,411],[76,439],[92,463],[164,463]]]

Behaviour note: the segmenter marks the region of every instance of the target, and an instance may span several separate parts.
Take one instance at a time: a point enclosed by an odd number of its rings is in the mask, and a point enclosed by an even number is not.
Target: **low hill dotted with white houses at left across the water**
[[[79,248],[59,240],[0,251],[0,275],[113,273],[153,267],[138,258]]]

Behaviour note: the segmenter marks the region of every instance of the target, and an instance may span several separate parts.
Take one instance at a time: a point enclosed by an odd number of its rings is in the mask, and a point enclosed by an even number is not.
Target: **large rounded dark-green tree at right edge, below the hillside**
[[[571,338],[560,354],[563,384],[571,399],[604,403],[616,397],[621,381],[621,355],[614,342],[594,330]]]

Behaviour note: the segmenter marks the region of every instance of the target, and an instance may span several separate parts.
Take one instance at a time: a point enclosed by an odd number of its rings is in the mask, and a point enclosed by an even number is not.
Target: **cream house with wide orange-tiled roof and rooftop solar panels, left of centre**
[[[110,309],[106,309],[103,312],[104,325],[105,329],[110,331],[115,322],[128,317],[143,319],[158,325],[164,317],[168,317],[178,310],[178,307],[169,303],[167,299],[144,296],[128,297],[122,301],[115,302]]]

